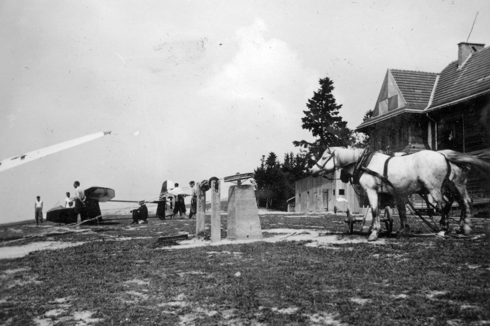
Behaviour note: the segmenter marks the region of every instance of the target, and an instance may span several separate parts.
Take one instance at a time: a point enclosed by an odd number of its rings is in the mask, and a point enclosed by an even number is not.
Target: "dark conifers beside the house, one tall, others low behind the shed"
[[[294,197],[296,180],[309,175],[309,169],[317,161],[327,146],[355,145],[367,147],[369,137],[360,135],[347,128],[339,114],[342,105],[338,105],[332,94],[333,81],[325,77],[319,80],[320,88],[306,103],[305,116],[301,118],[303,129],[309,130],[316,138],[313,142],[294,141],[299,153],[284,154],[284,162],[277,159],[274,152],[262,155],[261,164],[255,172],[255,188],[259,207],[286,210],[288,199]],[[372,117],[372,110],[366,112],[363,121]]]

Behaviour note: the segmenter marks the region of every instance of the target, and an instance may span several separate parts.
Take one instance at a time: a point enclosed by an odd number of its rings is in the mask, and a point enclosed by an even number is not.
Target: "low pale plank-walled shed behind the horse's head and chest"
[[[340,171],[328,174],[328,177],[338,179]],[[337,201],[339,197],[347,199],[348,202]],[[340,211],[349,208],[352,213],[359,213],[361,207],[360,198],[349,183],[329,180],[321,176],[316,178],[308,176],[296,181],[295,202],[296,212],[327,212],[333,211],[334,206],[337,206]]]

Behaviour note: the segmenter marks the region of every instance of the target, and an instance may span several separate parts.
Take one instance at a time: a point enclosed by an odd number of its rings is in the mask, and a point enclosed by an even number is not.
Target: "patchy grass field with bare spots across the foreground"
[[[224,238],[226,215],[221,219]],[[376,243],[368,243],[366,235],[348,235],[340,214],[270,214],[260,219],[265,241],[211,246],[192,239],[195,246],[186,249],[164,247],[157,237],[193,234],[195,220],[153,218],[130,226],[129,217],[108,217],[82,232],[61,229],[23,240],[16,239],[51,229],[46,222],[43,227],[0,229],[0,238],[11,241],[4,242],[4,251],[77,244],[0,260],[0,322],[490,324],[486,219],[474,220],[473,235],[480,237],[441,240],[426,235],[409,217],[413,232],[382,234]]]

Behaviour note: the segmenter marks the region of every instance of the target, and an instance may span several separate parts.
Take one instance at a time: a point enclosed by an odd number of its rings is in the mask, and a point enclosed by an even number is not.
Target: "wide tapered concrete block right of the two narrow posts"
[[[253,185],[234,185],[228,190],[227,239],[262,239]]]

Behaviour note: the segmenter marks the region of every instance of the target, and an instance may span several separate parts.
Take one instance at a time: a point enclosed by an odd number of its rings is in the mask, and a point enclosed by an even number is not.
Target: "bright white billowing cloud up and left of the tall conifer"
[[[287,42],[266,33],[262,19],[240,27],[234,40],[238,51],[199,93],[211,101],[217,119],[244,130],[266,127],[258,131],[264,137],[285,128],[301,132],[302,110],[319,74],[305,68]]]

